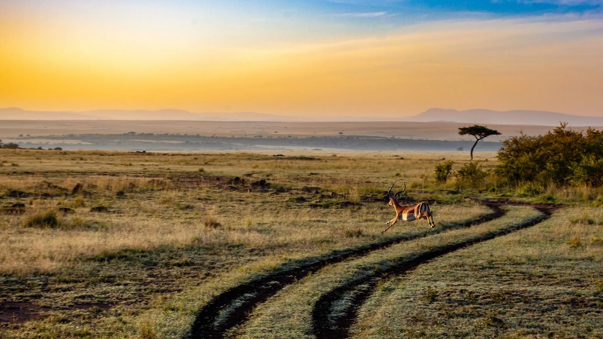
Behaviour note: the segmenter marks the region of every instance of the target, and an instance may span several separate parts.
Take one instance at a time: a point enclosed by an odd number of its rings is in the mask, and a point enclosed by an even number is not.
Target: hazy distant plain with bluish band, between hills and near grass
[[[469,150],[473,138],[458,135],[458,122],[268,122],[3,120],[5,143],[63,150]],[[490,125],[499,138],[476,150],[496,151],[520,133],[543,134],[550,126]],[[580,129],[580,127],[578,127]],[[586,129],[581,128],[581,129]]]

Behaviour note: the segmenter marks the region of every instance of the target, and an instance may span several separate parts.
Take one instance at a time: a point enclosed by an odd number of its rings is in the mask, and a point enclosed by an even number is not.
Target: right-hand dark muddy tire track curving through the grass
[[[491,208],[495,208],[499,205],[513,205],[514,203],[498,203],[494,201],[482,201]],[[499,229],[495,232],[490,232],[486,235],[476,236],[466,241],[457,242],[455,244],[449,244],[446,246],[435,247],[434,249],[424,252],[421,255],[413,258],[406,259],[400,258],[398,262],[391,265],[384,270],[376,271],[373,274],[359,276],[357,279],[349,280],[345,285],[334,288],[329,293],[324,294],[317,300],[312,310],[312,334],[317,339],[344,339],[349,338],[349,330],[353,323],[356,321],[359,307],[368,299],[373,293],[374,288],[377,286],[377,282],[388,276],[395,274],[403,274],[408,271],[414,270],[419,265],[426,264],[432,259],[438,258],[439,256],[446,255],[456,250],[463,249],[465,247],[478,244],[479,242],[487,241],[490,239],[497,238],[502,235],[514,232],[516,230],[525,229],[531,227],[542,221],[547,220],[551,217],[552,212],[560,208],[558,205],[531,205],[531,204],[515,204],[521,206],[531,206],[542,212],[544,215],[534,218],[532,220],[526,220],[522,223],[515,224],[505,229]],[[338,302],[344,297],[349,297],[348,302],[351,304],[344,312],[339,314],[337,317],[331,317],[331,312],[334,303]]]

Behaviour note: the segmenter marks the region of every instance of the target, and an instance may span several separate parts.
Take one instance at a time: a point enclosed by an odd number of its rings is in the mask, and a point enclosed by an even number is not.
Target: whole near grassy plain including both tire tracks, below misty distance
[[[598,189],[461,154],[0,150],[0,337],[602,337]]]

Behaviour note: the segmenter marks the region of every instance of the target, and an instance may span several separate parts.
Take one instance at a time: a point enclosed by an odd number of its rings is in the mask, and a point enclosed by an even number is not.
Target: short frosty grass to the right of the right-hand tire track
[[[361,308],[354,337],[602,338],[602,218],[566,209],[395,277]]]

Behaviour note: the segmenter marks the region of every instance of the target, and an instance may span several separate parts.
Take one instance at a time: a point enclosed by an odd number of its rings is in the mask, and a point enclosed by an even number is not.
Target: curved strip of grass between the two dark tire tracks
[[[450,212],[446,217],[454,220],[454,212],[458,211]],[[250,321],[242,329],[234,331],[233,335],[236,334],[241,338],[314,338],[311,335],[313,306],[321,296],[333,288],[355,279],[362,279],[363,276],[373,274],[374,271],[384,270],[400,259],[412,258],[432,247],[492,232],[508,226],[509,223],[536,215],[538,212],[531,208],[513,208],[504,217],[479,226],[449,230],[426,238],[402,242],[387,249],[374,251],[355,261],[331,265],[317,274],[306,277],[299,284],[289,285],[273,300],[257,307]],[[362,285],[359,285],[359,288],[362,288]],[[344,296],[342,300],[335,303],[331,315],[335,316],[346,306],[349,306],[349,303]],[[283,309],[287,312],[283,312]]]

